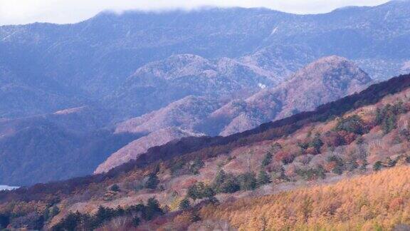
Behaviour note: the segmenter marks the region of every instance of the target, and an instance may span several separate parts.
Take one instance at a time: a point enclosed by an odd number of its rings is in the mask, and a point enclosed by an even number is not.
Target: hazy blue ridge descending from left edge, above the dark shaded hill
[[[34,116],[86,102],[82,95],[52,79],[16,73],[0,61],[0,118]]]

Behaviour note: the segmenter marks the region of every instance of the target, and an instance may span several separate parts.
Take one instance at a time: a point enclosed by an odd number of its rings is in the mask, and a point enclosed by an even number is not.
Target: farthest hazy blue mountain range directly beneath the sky
[[[407,70],[409,34],[409,1],[317,15],[240,8],[129,11],[104,12],[78,24],[1,26],[0,70],[6,71],[0,71],[0,77],[13,78],[14,83],[6,89],[2,83],[0,91],[16,94],[19,101],[1,108],[0,115],[51,112],[76,106],[78,101],[100,101],[111,93],[117,96],[138,68],[181,53],[206,59],[261,58],[249,63],[274,65],[268,69],[283,74],[297,70],[286,69],[286,61],[295,53],[300,57],[298,66],[312,58],[338,55],[358,63],[372,78],[383,79]],[[267,48],[270,53],[264,56]],[[166,90],[173,94],[172,88]],[[27,96],[27,92],[32,101],[19,95]],[[116,97],[108,98],[117,104]],[[50,103],[43,106],[37,103],[41,100]],[[0,101],[8,105],[6,98]],[[19,103],[22,107],[15,109]],[[130,106],[127,101],[124,104]]]

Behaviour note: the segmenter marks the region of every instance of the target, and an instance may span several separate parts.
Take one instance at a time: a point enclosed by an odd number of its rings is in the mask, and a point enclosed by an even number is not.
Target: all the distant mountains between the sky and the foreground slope
[[[360,91],[369,76],[405,73],[409,9],[102,12],[78,24],[0,26],[1,183],[108,170],[149,149],[131,142],[243,132]],[[79,108],[96,109],[66,119]],[[95,140],[110,148],[85,148]]]

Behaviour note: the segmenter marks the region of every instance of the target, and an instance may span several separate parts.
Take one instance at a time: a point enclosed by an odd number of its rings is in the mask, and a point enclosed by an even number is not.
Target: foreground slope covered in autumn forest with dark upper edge
[[[409,89],[409,75],[391,78],[243,133],[149,148],[107,173],[2,192],[1,224],[53,230],[407,228],[399,217],[409,202]],[[389,190],[380,190],[386,185]]]

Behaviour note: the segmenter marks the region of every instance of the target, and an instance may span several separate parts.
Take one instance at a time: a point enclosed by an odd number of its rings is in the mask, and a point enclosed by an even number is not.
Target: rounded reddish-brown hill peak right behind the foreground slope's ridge
[[[200,126],[209,134],[238,133],[269,120],[312,111],[321,104],[360,91],[371,82],[367,73],[345,58],[321,58],[275,88],[264,89],[243,101],[228,103]]]

